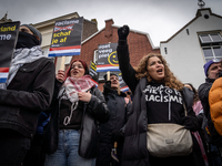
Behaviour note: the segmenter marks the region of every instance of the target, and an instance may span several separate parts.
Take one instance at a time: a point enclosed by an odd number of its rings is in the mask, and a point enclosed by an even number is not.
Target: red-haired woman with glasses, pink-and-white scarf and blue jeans
[[[65,77],[57,75],[64,84],[51,104],[46,166],[91,166],[95,162],[99,123],[108,122],[110,112],[102,92],[88,74],[87,63],[73,60]]]

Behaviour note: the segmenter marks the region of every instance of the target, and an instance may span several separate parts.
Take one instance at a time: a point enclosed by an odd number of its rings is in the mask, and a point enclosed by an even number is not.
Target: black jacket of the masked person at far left
[[[7,90],[0,90],[0,128],[32,138],[39,114],[50,106],[54,75],[54,64],[47,58],[21,66]]]

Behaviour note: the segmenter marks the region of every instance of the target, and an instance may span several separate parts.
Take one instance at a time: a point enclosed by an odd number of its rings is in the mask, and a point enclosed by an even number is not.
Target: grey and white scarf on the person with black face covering
[[[9,76],[6,83],[0,84],[0,89],[7,89],[9,83],[12,81],[18,70],[26,63],[34,62],[36,60],[43,58],[42,50],[40,45],[33,46],[31,49],[16,49],[13,53],[13,59],[11,61],[11,66],[9,70]]]

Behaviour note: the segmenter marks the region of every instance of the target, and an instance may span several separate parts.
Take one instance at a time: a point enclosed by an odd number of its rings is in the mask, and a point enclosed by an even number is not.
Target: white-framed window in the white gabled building
[[[222,60],[222,38],[220,33],[199,34],[205,62],[218,59]]]

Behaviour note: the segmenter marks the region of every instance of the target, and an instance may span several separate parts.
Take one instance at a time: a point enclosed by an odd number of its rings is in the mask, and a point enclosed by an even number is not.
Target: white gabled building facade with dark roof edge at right
[[[169,40],[160,42],[161,54],[179,80],[198,89],[205,81],[205,62],[222,59],[221,37],[222,17],[210,8],[199,9],[195,18]]]

